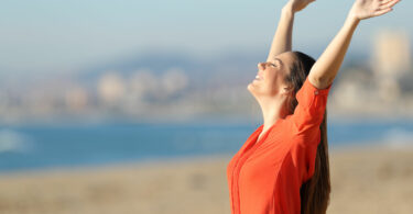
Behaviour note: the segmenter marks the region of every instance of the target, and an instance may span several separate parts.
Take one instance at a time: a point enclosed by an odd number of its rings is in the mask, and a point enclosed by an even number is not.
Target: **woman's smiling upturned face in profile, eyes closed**
[[[285,52],[267,63],[258,64],[256,79],[248,85],[248,90],[256,97],[274,97],[289,92],[285,78],[294,61],[293,53]]]

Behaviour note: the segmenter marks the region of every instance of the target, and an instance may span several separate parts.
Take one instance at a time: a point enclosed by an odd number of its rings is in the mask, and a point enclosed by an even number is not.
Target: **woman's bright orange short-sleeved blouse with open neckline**
[[[293,114],[257,142],[258,127],[227,166],[231,214],[300,214],[300,188],[314,173],[327,95],[305,79]]]

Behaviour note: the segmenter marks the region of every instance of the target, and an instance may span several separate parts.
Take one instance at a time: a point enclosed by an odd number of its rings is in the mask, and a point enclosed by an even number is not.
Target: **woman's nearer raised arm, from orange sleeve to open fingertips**
[[[360,20],[379,16],[392,10],[400,0],[356,0],[338,34],[314,64],[308,80],[318,89],[333,83]]]

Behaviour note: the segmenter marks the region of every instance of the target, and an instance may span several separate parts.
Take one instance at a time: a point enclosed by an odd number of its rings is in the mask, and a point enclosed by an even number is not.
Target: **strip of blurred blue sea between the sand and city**
[[[233,155],[260,124],[70,124],[0,126],[0,172]],[[330,149],[412,146],[413,121],[329,122]]]

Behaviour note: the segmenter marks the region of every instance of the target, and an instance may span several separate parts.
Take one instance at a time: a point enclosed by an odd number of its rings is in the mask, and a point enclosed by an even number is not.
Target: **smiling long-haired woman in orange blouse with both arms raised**
[[[360,22],[400,0],[356,0],[346,22],[317,61],[292,49],[294,13],[314,0],[283,8],[267,63],[248,90],[263,124],[227,167],[232,214],[326,213],[329,167],[326,103],[334,78]]]

